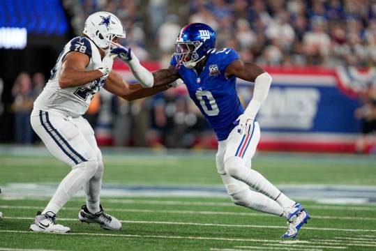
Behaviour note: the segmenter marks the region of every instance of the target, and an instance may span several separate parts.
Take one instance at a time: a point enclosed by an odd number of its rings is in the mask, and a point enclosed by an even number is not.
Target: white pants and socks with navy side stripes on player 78
[[[57,213],[82,187],[87,194],[89,211],[98,212],[103,162],[89,122],[82,116],[72,118],[58,112],[33,109],[31,126],[50,153],[72,167],[43,213]]]

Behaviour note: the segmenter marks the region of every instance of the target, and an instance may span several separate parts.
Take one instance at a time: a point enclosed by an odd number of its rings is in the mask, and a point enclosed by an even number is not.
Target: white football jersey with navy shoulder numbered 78
[[[61,64],[68,52],[87,54],[90,61],[86,70],[95,70],[100,67],[102,62],[98,47],[89,38],[77,37],[70,40],[59,55],[55,67],[51,70],[50,80],[34,102],[34,108],[63,112],[67,116],[80,116],[87,111],[93,95],[105,83],[105,78],[100,77],[82,86],[61,89],[59,86]]]

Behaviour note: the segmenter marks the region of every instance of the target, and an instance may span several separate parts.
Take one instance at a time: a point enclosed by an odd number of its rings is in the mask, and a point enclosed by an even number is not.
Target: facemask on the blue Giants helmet
[[[188,69],[192,69],[196,66],[196,64],[204,59],[205,56],[202,56],[201,59],[197,54],[197,50],[201,47],[202,42],[194,41],[194,42],[175,42],[175,59],[178,63],[177,66],[185,66]]]

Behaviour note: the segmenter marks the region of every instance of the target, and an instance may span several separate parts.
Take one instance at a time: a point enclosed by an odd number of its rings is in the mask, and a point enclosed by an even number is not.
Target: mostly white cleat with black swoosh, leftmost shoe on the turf
[[[56,214],[47,212],[41,214],[40,211],[36,214],[34,223],[30,225],[31,231],[45,232],[45,233],[68,233],[69,227],[56,224]]]

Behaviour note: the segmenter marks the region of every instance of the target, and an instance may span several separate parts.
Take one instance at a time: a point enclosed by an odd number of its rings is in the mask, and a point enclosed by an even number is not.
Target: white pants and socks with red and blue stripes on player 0
[[[239,206],[283,215],[283,206],[276,201],[280,197],[280,190],[260,173],[250,169],[251,159],[260,141],[259,123],[254,122],[249,135],[240,135],[238,127],[230,132],[227,139],[218,142],[216,155],[217,170],[228,194]],[[257,192],[250,190],[250,187]]]

